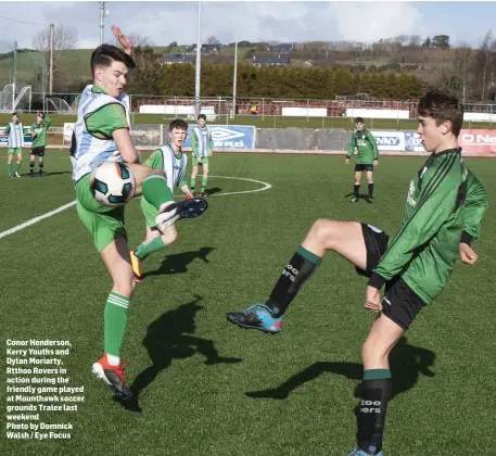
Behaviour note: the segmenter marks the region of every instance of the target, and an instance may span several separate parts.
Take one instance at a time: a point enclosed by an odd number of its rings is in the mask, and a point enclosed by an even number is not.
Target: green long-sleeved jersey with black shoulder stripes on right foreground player
[[[390,239],[369,284],[394,277],[430,304],[452,274],[463,237],[480,235],[485,191],[461,159],[461,149],[432,154],[411,180],[403,225]]]

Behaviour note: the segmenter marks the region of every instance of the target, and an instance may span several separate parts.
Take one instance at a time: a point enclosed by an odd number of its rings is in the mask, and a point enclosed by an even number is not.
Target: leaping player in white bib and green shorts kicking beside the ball
[[[104,309],[104,354],[92,365],[93,375],[119,398],[132,398],[120,365],[120,346],[127,313],[135,291],[131,258],[124,223],[125,206],[107,207],[94,199],[91,175],[101,164],[115,163],[120,173],[130,169],[136,195],[143,194],[158,210],[155,224],[164,230],[179,218],[195,217],[206,208],[202,199],[174,203],[164,173],[139,164],[129,134],[129,96],[124,91],[128,72],[135,67],[131,43],[118,27],[112,27],[124,51],[102,45],[91,54],[93,85],[81,93],[74,125],[71,156],[76,188],[77,214],[112,278]]]

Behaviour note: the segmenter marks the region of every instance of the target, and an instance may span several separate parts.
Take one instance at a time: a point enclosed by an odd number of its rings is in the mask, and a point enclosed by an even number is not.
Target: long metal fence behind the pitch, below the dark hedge
[[[25,111],[43,110],[51,113],[77,112],[80,93],[46,93],[33,92],[29,106]],[[131,94],[130,105],[132,122],[144,119],[144,114],[154,114],[161,118],[194,117],[194,97],[162,97]],[[201,98],[200,110],[211,121],[232,123],[234,119],[250,117],[256,125],[257,121],[267,121],[274,126],[281,125],[283,118],[293,117],[295,123],[304,125],[326,125],[326,119],[341,118],[343,125],[353,124],[355,117],[361,116],[380,124],[386,121],[396,122],[417,118],[417,100],[313,100],[313,99],[272,99],[272,98],[238,98],[215,97]],[[465,103],[466,119],[470,122],[496,123],[496,103]],[[138,117],[136,117],[139,115]],[[143,116],[141,116],[143,115]],[[296,121],[297,118],[297,121]]]

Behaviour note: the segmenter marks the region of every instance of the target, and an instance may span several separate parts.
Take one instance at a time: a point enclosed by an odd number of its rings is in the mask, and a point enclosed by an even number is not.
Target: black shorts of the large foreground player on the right
[[[367,250],[367,266],[366,270],[357,268],[357,273],[370,277],[387,249],[390,237],[379,228],[366,224],[361,224],[361,232]],[[424,305],[424,302],[400,277],[394,277],[386,282],[382,299],[382,314],[405,331]]]

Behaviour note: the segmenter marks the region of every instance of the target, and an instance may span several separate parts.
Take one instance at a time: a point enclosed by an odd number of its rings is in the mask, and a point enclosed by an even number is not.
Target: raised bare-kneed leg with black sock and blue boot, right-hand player
[[[228,313],[227,319],[242,328],[279,332],[285,311],[306,280],[317,270],[328,251],[336,252],[358,269],[366,270],[367,249],[361,224],[316,220],[282,269],[268,301],[255,304],[244,312]]]

